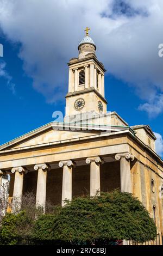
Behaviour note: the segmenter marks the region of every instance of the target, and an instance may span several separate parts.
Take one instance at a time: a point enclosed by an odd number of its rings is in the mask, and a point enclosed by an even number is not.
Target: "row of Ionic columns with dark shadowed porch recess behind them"
[[[125,160],[126,162],[122,165],[120,161],[116,160],[117,156],[115,156],[115,154],[111,154],[90,156],[87,158],[82,157],[82,159],[71,158],[50,163],[38,163],[30,166],[11,168],[11,172],[8,169],[7,172],[11,175],[12,184],[10,187],[10,196],[21,199],[23,193],[33,191],[36,194],[36,205],[41,205],[45,208],[46,199],[50,200],[48,198],[49,191],[55,191],[53,190],[53,186],[60,191],[60,204],[62,205],[64,205],[65,199],[71,200],[72,196],[80,196],[82,193],[89,193],[90,196],[95,196],[97,191],[110,191],[114,188],[121,188],[120,184],[123,185],[124,192],[129,192],[126,187],[129,186],[131,188],[131,178],[130,175],[128,176],[126,174],[126,170],[130,172],[130,160]],[[112,170],[111,167],[114,167],[115,170]],[[25,172],[25,169],[28,169],[28,172]],[[110,172],[115,172],[117,182],[112,179],[109,174]],[[108,178],[105,177],[107,173]],[[57,176],[57,181],[55,176]],[[84,180],[82,180],[83,176]],[[30,185],[28,186],[28,182],[31,179],[33,179],[33,184],[36,184],[36,190],[30,187]],[[110,186],[110,184],[114,184],[114,186]],[[80,192],[78,187],[80,188]],[[126,191],[124,188],[126,188]],[[55,202],[55,192],[52,193],[52,202]]]

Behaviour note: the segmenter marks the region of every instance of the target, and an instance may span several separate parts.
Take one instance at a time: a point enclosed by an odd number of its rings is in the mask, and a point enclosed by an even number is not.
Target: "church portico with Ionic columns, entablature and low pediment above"
[[[53,130],[52,126],[54,128],[55,125],[58,124],[49,124],[44,132],[43,127],[40,139],[46,133],[55,137],[58,133],[64,134],[64,131]],[[45,208],[46,200],[64,205],[65,199],[71,200],[73,196],[83,193],[95,196],[97,191],[111,191],[115,188],[131,192],[130,161],[134,157],[128,144],[120,143],[124,139],[124,131],[131,133],[131,130],[121,130],[117,145],[112,144],[115,130],[109,137],[108,133],[96,134],[88,130],[87,136],[78,137],[82,132],[73,131],[73,137],[77,133],[77,138],[72,139],[72,132],[66,131],[70,139],[36,145],[36,138],[35,142],[30,138],[30,147],[16,145],[15,148],[1,151],[4,159],[8,158],[7,161],[1,161],[1,167],[11,175],[10,197],[21,198],[23,193],[30,191],[36,195],[36,204]],[[12,158],[14,160],[9,161]],[[122,161],[123,164],[120,164]]]

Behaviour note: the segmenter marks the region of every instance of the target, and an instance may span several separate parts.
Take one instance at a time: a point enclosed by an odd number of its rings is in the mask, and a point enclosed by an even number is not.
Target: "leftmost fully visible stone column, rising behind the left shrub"
[[[24,173],[27,171],[22,167],[14,167],[11,169],[11,173],[15,173],[14,180],[14,192],[13,192],[13,202],[12,204],[15,207],[20,207],[22,202],[22,194],[23,194],[23,178]]]

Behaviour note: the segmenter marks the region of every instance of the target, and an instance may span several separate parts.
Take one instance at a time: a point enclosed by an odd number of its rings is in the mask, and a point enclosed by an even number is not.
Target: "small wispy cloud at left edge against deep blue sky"
[[[5,66],[5,62],[0,62],[0,77],[5,78],[8,88],[11,90],[12,94],[15,94],[15,84],[12,83],[12,77],[8,74],[7,70],[5,70]]]

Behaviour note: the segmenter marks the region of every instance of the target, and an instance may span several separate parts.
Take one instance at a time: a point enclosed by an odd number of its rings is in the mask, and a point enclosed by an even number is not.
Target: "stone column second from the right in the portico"
[[[88,157],[86,163],[90,164],[90,196],[93,197],[97,191],[100,193],[100,164],[103,160],[99,156]]]

